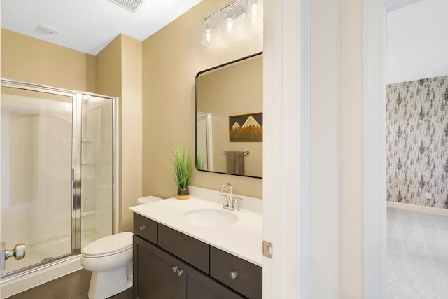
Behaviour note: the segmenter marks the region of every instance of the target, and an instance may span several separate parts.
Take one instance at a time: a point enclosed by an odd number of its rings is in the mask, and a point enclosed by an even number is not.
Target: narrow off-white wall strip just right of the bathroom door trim
[[[311,298],[341,287],[341,1],[311,2]]]

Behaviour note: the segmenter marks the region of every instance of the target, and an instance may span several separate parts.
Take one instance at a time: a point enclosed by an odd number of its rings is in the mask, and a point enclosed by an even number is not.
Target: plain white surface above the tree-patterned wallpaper
[[[447,0],[422,0],[387,13],[388,84],[448,75],[447,13]]]

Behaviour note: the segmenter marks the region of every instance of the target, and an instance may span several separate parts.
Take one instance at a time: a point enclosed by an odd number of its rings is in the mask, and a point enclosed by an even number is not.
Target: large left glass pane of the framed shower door
[[[70,94],[1,88],[1,241],[27,245],[3,274],[72,253]]]

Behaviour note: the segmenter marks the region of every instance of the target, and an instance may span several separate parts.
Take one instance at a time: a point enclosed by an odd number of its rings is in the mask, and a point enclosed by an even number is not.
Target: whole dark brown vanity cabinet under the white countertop
[[[134,214],[134,290],[140,299],[262,298],[262,269]]]

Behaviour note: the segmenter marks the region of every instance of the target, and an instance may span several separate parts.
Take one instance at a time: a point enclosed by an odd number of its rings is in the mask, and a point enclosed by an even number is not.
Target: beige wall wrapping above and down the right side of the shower
[[[120,97],[119,228],[131,230],[128,208],[141,197],[141,41],[120,34],[97,56],[6,29],[1,42],[4,78]]]

